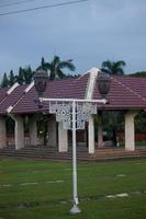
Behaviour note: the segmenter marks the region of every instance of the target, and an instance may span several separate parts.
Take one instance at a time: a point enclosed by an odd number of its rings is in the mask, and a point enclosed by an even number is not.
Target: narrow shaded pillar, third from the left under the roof
[[[31,146],[36,146],[37,145],[37,126],[36,126],[36,119],[34,116],[30,117],[29,134],[30,134]]]

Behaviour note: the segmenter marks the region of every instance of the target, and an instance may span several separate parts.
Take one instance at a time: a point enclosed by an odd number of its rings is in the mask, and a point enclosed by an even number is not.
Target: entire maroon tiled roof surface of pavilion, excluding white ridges
[[[44,97],[52,99],[85,99],[89,74],[79,78],[48,81]],[[5,114],[9,106],[11,113],[31,114],[38,112],[36,91],[34,87],[24,93],[27,85],[19,85],[5,96],[7,89],[0,89],[0,114]],[[101,99],[98,89],[94,89],[93,99]],[[108,94],[110,104],[106,110],[138,110],[146,108],[146,78],[111,77],[111,90]],[[3,100],[3,101],[2,101]],[[43,103],[43,110],[48,110],[48,103]],[[101,108],[103,105],[98,104]]]

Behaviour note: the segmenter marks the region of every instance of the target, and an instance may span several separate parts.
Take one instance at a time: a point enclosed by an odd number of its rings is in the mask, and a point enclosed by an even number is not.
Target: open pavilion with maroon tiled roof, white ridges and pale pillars
[[[44,97],[100,100],[98,73],[99,69],[92,68],[78,78],[48,81]],[[125,150],[135,150],[134,119],[139,111],[146,111],[146,78],[111,76],[111,89],[106,97],[109,104],[98,104],[98,112],[124,112]],[[10,89],[0,88],[0,148],[8,147],[5,117],[14,122],[14,146],[15,150],[20,150],[25,147],[24,118],[29,120],[29,143],[36,146],[37,119],[44,114],[47,119],[47,147],[57,147],[59,152],[68,151],[69,131],[63,128],[61,122],[56,122],[54,114],[48,113],[49,103],[44,102],[43,107],[38,108],[36,100],[34,82],[29,85],[15,83]],[[88,141],[89,153],[94,153],[94,116],[90,116],[87,129],[78,135],[82,135],[82,139]],[[98,123],[98,147],[103,147],[102,122]]]

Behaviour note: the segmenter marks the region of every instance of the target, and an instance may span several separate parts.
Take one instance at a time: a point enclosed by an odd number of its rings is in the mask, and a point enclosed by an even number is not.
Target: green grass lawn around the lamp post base
[[[78,193],[70,216],[69,162],[0,160],[0,219],[145,219],[146,160],[79,163]]]

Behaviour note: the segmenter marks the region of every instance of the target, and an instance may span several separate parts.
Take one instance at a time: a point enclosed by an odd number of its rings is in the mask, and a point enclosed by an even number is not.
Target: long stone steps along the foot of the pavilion
[[[48,148],[23,148],[14,150],[13,148],[0,149],[0,157],[11,157],[19,159],[48,159],[48,160],[71,160],[69,152],[52,151]],[[77,159],[81,161],[117,160],[130,158],[146,158],[146,149],[136,149],[135,151],[125,151],[124,149],[97,149],[94,154],[86,151],[77,151]]]

